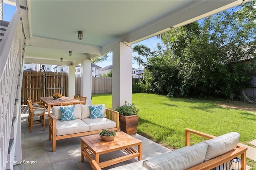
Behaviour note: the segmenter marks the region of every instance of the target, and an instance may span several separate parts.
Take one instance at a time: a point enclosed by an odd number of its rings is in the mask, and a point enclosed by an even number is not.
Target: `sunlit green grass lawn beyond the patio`
[[[112,108],[112,95],[92,96],[92,104]],[[172,148],[184,147],[184,128],[219,136],[240,133],[240,142],[256,139],[256,114],[214,105],[214,101],[169,98],[162,95],[134,93],[132,103],[139,109],[138,133]],[[191,135],[191,144],[203,138]]]

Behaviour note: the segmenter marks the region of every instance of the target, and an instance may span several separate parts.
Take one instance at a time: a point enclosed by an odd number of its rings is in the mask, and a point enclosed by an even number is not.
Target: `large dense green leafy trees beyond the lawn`
[[[166,50],[148,57],[147,83],[169,96],[238,99],[250,85],[256,57],[255,1],[161,35]]]

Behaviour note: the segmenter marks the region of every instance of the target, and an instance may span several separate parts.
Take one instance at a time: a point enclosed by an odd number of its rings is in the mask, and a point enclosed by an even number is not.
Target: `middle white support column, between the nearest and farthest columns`
[[[92,104],[92,75],[90,59],[81,60],[81,94],[87,97],[86,105]]]

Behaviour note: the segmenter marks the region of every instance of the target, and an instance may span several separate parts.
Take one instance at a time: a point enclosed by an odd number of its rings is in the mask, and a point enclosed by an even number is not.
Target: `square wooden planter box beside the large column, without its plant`
[[[139,115],[123,116],[119,115],[120,128],[127,134],[136,134]]]

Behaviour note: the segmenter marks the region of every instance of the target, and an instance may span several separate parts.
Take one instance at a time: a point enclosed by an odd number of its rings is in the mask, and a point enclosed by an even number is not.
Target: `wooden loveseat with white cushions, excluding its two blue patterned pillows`
[[[97,108],[100,105],[92,105]],[[75,120],[62,120],[61,108],[74,107]],[[102,130],[119,132],[119,113],[102,105],[101,118],[92,117],[90,105],[68,105],[52,107],[49,114],[49,140],[52,139],[52,152],[56,151],[56,140],[100,133]],[[97,112],[98,113],[98,112]]]

